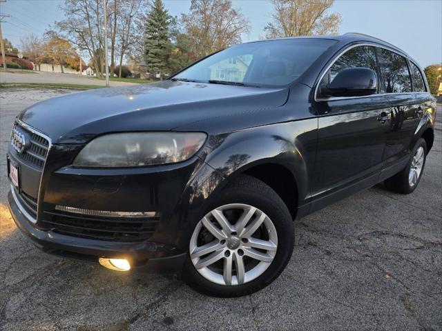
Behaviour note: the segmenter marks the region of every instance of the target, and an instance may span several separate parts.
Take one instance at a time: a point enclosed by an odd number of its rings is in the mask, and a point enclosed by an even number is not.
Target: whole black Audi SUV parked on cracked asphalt
[[[435,110],[416,61],[374,37],[244,43],[21,112],[10,211],[45,252],[249,294],[287,265],[294,219],[380,182],[413,192]]]

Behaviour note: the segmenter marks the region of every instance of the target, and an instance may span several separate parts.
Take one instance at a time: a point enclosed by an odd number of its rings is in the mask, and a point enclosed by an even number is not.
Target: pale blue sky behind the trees
[[[59,0],[7,0],[0,14],[10,14],[2,23],[3,38],[19,46],[21,37],[43,34],[48,25],[63,19]],[[190,0],[165,0],[173,16],[189,10]],[[233,6],[251,23],[243,41],[259,39],[271,18],[267,0],[233,0]],[[385,39],[409,53],[421,66],[442,61],[442,0],[337,0],[332,11],[342,16],[340,33],[361,32]]]

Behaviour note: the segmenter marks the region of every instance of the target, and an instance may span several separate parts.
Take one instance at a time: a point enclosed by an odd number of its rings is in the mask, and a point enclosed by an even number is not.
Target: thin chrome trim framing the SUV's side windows
[[[319,83],[323,80],[325,74],[329,71],[330,68],[332,68],[332,66],[334,65],[334,63],[336,61],[338,61],[338,59],[340,57],[343,56],[343,54],[345,54],[346,52],[348,52],[349,50],[352,50],[353,48],[356,47],[360,47],[360,46],[372,46],[372,47],[377,47],[377,48],[383,48],[385,50],[390,50],[390,52],[394,52],[398,55],[401,55],[401,57],[404,57],[405,59],[408,59],[409,61],[412,61],[414,64],[416,64],[416,61],[414,61],[413,59],[411,59],[407,54],[403,54],[401,52],[398,52],[397,50],[394,50],[393,48],[389,48],[387,46],[383,46],[380,45],[378,43],[369,43],[369,42],[362,42],[362,43],[356,43],[352,46],[349,46],[347,48],[345,48],[342,52],[340,52],[336,58],[329,63],[329,65],[327,67],[325,67],[325,70],[323,70],[323,72],[320,74],[320,78],[318,79],[318,81],[316,81],[316,86],[315,86],[315,91],[314,91],[314,101],[334,101],[334,100],[347,100],[347,99],[361,99],[361,98],[367,98],[367,97],[380,97],[380,96],[385,96],[385,95],[397,95],[397,94],[422,94],[428,93],[428,88],[427,88],[427,92],[396,92],[396,93],[376,93],[376,94],[370,94],[370,95],[363,95],[360,97],[328,97],[328,98],[318,98],[318,88],[319,88]],[[419,68],[419,70],[421,70],[420,66],[417,66]],[[422,72],[422,70],[421,70]],[[411,77],[411,73],[410,73],[410,77]],[[425,86],[427,87],[427,82],[424,81]]]

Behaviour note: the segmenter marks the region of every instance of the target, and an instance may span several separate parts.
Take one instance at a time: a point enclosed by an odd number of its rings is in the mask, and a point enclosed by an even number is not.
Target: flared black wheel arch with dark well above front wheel
[[[225,148],[214,150],[205,161],[222,174],[224,183],[239,174],[247,174],[269,185],[296,217],[308,192],[308,172],[300,141],[262,134],[233,139]]]

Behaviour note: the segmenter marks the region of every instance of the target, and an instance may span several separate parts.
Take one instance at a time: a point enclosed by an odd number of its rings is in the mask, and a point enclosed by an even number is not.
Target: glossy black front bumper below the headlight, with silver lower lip
[[[139,268],[180,270],[193,222],[202,217],[209,197],[224,177],[198,156],[182,163],[145,168],[73,168],[73,159],[82,147],[49,144],[44,165],[36,168],[9,144],[8,159],[19,165],[20,183],[19,190],[9,192],[8,201],[19,229],[51,254],[88,261],[98,261],[99,257],[128,259]],[[146,223],[124,217],[110,221],[97,215],[66,215],[66,210],[143,212],[155,217],[144,219]],[[82,221],[88,222],[86,228]],[[102,225],[98,229],[98,224],[107,226],[112,222],[112,226],[124,230]],[[146,237],[128,237],[139,233],[128,226],[135,223],[146,226]],[[73,232],[73,228],[87,231]],[[109,232],[111,236],[104,236]]]

